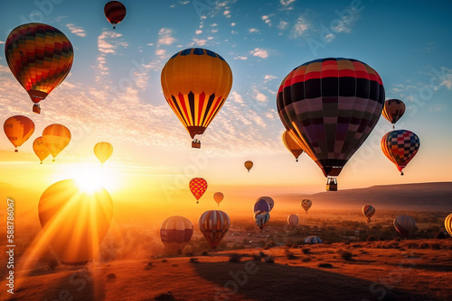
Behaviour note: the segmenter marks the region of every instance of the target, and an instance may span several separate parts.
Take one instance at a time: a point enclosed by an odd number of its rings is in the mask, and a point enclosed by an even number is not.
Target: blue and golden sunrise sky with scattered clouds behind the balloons
[[[421,144],[400,177],[381,152],[381,137],[392,130],[381,117],[345,165],[339,189],[450,180],[452,163],[444,159],[452,148],[451,2],[268,0],[258,7],[246,0],[124,0],[127,15],[115,30],[103,13],[106,3],[2,0],[0,46],[16,26],[39,22],[61,30],[74,47],[69,76],[42,101],[39,115],[0,52],[2,120],[23,114],[36,124],[18,153],[0,135],[6,195],[26,191],[37,203],[52,183],[80,176],[101,178],[120,202],[166,208],[194,203],[188,190],[194,177],[209,185],[200,200],[204,209],[216,207],[217,191],[225,201],[250,202],[325,191],[315,162],[306,154],[295,162],[284,146],[276,93],[293,68],[328,57],[359,59],[377,70],[386,98],[407,105],[396,128],[417,133]],[[191,148],[160,84],[165,62],[193,47],[219,53],[233,76],[200,150]],[[40,165],[33,140],[52,123],[71,130],[71,143],[56,162]],[[99,141],[114,147],[102,168],[92,151]],[[245,160],[254,162],[250,173]]]

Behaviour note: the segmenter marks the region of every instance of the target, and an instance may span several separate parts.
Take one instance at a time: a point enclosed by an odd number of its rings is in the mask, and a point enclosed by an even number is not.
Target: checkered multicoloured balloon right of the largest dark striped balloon
[[[401,176],[403,176],[401,170],[416,156],[419,147],[418,135],[407,130],[388,132],[381,139],[381,150],[397,166]]]

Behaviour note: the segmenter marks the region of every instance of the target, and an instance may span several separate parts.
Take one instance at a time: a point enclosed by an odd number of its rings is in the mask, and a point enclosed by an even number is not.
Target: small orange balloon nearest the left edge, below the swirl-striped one
[[[33,121],[23,115],[15,115],[5,120],[3,125],[6,137],[13,143],[15,152],[17,148],[24,144],[25,141],[33,135]]]

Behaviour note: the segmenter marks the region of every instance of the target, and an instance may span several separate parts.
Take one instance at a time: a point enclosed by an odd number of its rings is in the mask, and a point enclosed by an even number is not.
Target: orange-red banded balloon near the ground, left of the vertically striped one
[[[170,216],[160,226],[160,239],[169,254],[182,254],[192,235],[193,224],[184,216]]]

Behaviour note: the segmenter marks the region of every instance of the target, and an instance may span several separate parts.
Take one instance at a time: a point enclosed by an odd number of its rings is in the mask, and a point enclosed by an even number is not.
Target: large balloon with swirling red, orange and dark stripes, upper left
[[[28,92],[39,114],[39,102],[61,84],[71,70],[71,41],[51,25],[27,23],[14,28],[5,41],[5,57],[14,77]]]

